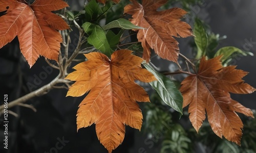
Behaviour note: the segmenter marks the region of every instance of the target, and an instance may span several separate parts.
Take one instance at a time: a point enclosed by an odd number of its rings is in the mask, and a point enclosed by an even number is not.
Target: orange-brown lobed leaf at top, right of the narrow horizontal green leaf
[[[151,49],[163,59],[177,63],[179,55],[178,42],[175,37],[193,36],[190,25],[180,20],[187,12],[180,8],[157,11],[168,0],[142,0],[142,5],[135,0],[124,8],[124,13],[132,14],[133,24],[139,29],[137,38],[141,42],[143,59],[150,61]]]

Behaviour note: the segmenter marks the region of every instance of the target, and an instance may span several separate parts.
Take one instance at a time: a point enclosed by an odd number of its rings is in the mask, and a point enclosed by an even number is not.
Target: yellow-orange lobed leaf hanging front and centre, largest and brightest
[[[118,50],[111,60],[101,53],[85,55],[88,59],[74,67],[66,79],[76,81],[67,96],[89,94],[77,111],[77,130],[96,124],[100,142],[109,152],[122,143],[127,124],[141,128],[142,113],[136,101],[150,101],[134,81],[152,82],[153,74],[141,68],[143,59],[131,50]]]

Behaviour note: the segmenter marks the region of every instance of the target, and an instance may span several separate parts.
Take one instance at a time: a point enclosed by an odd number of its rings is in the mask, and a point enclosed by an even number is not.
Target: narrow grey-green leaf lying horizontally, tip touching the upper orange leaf
[[[103,26],[104,30],[108,30],[108,29],[112,29],[112,28],[121,28],[121,29],[143,29],[141,27],[138,27],[136,25],[134,25],[133,23],[131,23],[129,20],[120,18],[117,20],[114,20],[106,25]]]

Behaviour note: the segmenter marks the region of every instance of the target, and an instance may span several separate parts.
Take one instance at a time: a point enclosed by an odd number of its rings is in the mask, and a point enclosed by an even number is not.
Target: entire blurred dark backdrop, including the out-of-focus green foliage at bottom
[[[32,1],[31,1],[32,2]],[[70,10],[81,10],[86,1],[68,1]],[[184,21],[191,27],[194,18],[198,16],[209,25],[210,31],[219,34],[218,48],[235,46],[242,50],[256,54],[256,1],[169,1],[167,6],[181,7],[189,14]],[[76,33],[76,31],[74,31]],[[72,36],[75,38],[75,34]],[[193,38],[178,39],[180,52],[188,57],[193,56]],[[157,57],[152,62],[160,71],[175,69],[172,62]],[[239,57],[232,61],[238,69],[250,72],[245,82],[256,87],[255,65],[256,58],[252,56]],[[45,79],[37,80],[41,72],[47,72],[48,64],[40,57],[30,69],[20,53],[18,40],[0,49],[0,95],[8,94],[9,102],[31,91],[34,91],[53,80],[58,71],[53,69],[47,73]],[[177,82],[184,79],[184,75],[175,78]],[[123,143],[113,152],[122,153],[155,153],[155,152],[256,152],[256,121],[241,115],[245,124],[242,146],[220,139],[211,131],[205,121],[199,134],[193,130],[188,119],[187,108],[179,119],[179,114],[172,109],[166,110],[161,106],[160,98],[147,85],[145,89],[151,93],[152,103],[141,104],[144,122],[141,132],[126,126]],[[66,97],[66,89],[53,89],[48,94],[32,98],[26,104],[36,108],[36,112],[24,107],[14,107],[9,114],[9,148],[4,149],[4,127],[0,124],[0,152],[75,152],[94,153],[107,152],[99,143],[95,125],[76,131],[76,112],[84,96]],[[256,109],[256,93],[247,95],[232,95],[245,107]],[[0,102],[2,104],[3,101]],[[3,115],[0,122],[3,121]],[[56,144],[61,144],[56,148]]]

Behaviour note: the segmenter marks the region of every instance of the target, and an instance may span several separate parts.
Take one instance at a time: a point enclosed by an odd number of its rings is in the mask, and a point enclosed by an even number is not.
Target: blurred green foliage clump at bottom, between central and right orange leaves
[[[173,116],[175,114],[164,106],[165,103],[159,94],[152,94],[151,101],[154,103],[145,105],[143,110],[146,112],[143,131],[152,137],[161,136],[157,139],[162,146],[161,153],[190,152],[191,140],[183,127],[175,120],[177,116]]]

